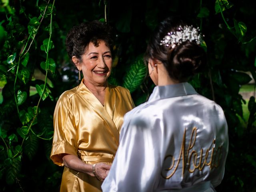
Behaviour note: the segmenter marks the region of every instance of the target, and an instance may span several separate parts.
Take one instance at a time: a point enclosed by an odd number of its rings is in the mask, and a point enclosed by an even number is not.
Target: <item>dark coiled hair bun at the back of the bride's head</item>
[[[183,42],[170,49],[167,55],[168,73],[171,78],[180,82],[187,81],[206,66],[206,52],[196,42]]]

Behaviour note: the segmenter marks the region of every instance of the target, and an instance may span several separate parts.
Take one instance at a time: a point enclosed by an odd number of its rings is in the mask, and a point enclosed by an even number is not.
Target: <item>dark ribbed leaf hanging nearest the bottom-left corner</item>
[[[16,178],[18,178],[20,169],[21,169],[20,158],[13,159],[11,165],[6,170],[6,183],[7,184],[11,185],[16,182]]]

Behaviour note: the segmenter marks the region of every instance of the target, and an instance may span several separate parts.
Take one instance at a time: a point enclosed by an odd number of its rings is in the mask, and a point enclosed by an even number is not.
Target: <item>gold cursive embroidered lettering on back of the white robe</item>
[[[165,179],[169,179],[171,178],[174,173],[176,172],[178,165],[180,164],[180,160],[182,159],[182,176],[184,175],[184,171],[187,168],[188,171],[190,173],[193,173],[196,169],[198,170],[202,170],[204,168],[204,166],[210,166],[210,169],[212,168],[217,168],[220,164],[220,159],[222,156],[222,146],[219,146],[217,148],[217,150],[215,151],[215,139],[212,141],[213,147],[211,149],[211,156],[210,156],[210,160],[209,162],[207,162],[208,160],[208,156],[209,156],[209,152],[210,152],[210,148],[208,148],[204,154],[203,157],[203,149],[200,150],[200,158],[198,160],[198,152],[196,152],[195,150],[192,150],[193,146],[196,143],[196,131],[197,128],[194,127],[192,129],[192,133],[191,133],[191,138],[190,138],[190,142],[188,145],[188,148],[185,150],[185,138],[186,138],[186,129],[184,131],[183,134],[183,140],[182,140],[182,145],[180,148],[180,155],[179,158],[176,162],[176,165],[174,166],[174,156],[172,155],[168,155],[164,158],[164,162],[170,162],[171,166],[168,169],[162,170],[161,172],[161,176]],[[185,156],[186,153],[186,156]],[[204,160],[203,160],[204,158]],[[167,176],[164,176],[164,172],[166,173],[166,171],[173,171],[168,174]]]

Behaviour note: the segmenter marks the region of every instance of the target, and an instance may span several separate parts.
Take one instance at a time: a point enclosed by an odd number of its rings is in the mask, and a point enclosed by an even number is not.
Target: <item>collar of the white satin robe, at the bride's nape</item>
[[[196,90],[188,82],[166,85],[166,86],[156,86],[150,95],[148,102],[155,100],[166,99],[171,97],[185,96],[198,94]]]

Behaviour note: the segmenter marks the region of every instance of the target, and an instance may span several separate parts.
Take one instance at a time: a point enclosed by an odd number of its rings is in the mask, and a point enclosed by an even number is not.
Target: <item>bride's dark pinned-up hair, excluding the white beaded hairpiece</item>
[[[179,17],[168,17],[163,20],[154,30],[144,56],[146,61],[149,58],[160,60],[170,78],[179,82],[186,82],[194,74],[200,72],[206,66],[207,60],[206,52],[196,42],[187,40],[174,48],[160,45],[161,40],[168,32],[176,32],[179,26],[186,25],[190,26],[191,24],[184,22]]]

